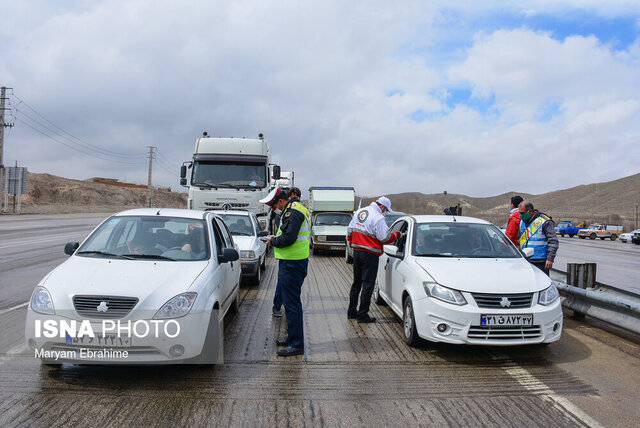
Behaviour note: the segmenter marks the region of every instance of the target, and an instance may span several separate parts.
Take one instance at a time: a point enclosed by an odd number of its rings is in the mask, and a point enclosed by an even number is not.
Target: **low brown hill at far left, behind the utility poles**
[[[7,212],[13,212],[12,201],[13,197],[9,196]],[[187,194],[152,189],[151,205],[186,208]],[[111,186],[30,172],[21,211],[29,214],[112,213],[146,206],[147,189]]]

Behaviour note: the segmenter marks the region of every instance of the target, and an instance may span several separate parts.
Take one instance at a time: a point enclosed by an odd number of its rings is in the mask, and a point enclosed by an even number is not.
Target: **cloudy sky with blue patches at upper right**
[[[154,184],[175,189],[205,130],[262,132],[302,189],[361,195],[539,194],[640,172],[637,0],[0,10],[4,162],[33,172],[146,183],[153,145]]]

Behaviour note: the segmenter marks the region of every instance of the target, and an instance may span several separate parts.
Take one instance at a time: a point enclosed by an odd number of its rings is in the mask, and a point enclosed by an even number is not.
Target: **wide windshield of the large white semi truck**
[[[199,161],[193,165],[191,185],[262,189],[267,185],[267,167],[259,163]]]

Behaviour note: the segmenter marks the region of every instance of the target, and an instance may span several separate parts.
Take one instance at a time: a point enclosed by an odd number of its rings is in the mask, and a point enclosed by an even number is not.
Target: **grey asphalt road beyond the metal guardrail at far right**
[[[640,245],[577,237],[558,237],[554,268],[567,271],[567,263],[597,263],[596,281],[640,295]]]

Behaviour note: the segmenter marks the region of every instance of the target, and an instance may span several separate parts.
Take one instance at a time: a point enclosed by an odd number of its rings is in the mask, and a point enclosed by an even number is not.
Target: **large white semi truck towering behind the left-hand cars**
[[[249,211],[267,229],[269,207],[259,201],[280,179],[280,167],[270,163],[269,143],[262,134],[258,138],[202,135],[191,161],[180,168],[180,184],[189,187],[187,208]]]

